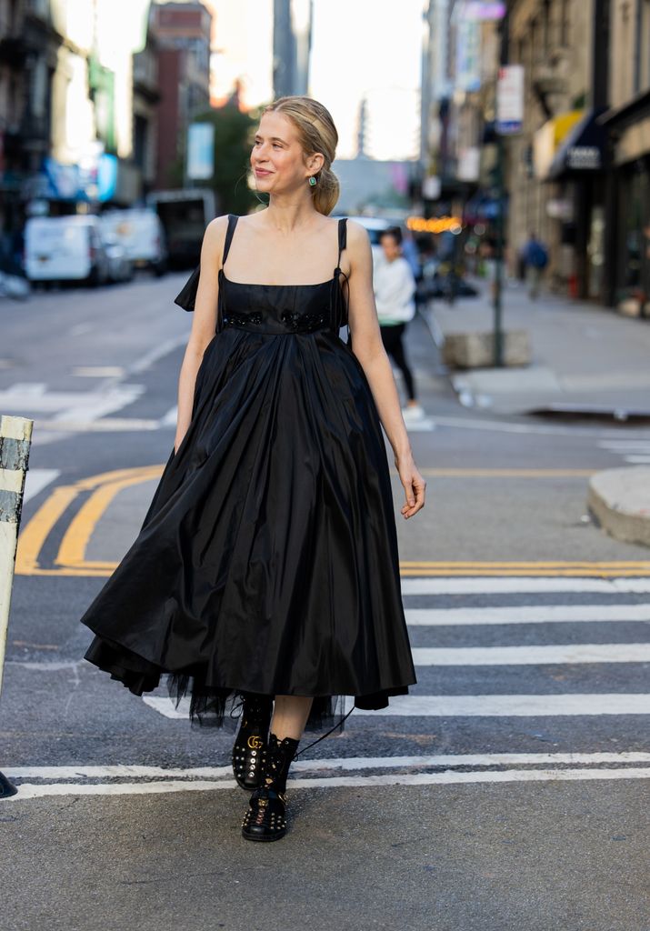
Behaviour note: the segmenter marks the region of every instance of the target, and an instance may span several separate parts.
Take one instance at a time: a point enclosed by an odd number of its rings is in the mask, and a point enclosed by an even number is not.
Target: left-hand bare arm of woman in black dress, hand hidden
[[[227,216],[215,217],[206,227],[203,236],[201,274],[196,290],[192,330],[187,341],[178,380],[178,418],[174,452],[178,452],[178,448],[192,420],[196,373],[201,364],[203,353],[214,336],[217,327],[218,274],[227,224]]]

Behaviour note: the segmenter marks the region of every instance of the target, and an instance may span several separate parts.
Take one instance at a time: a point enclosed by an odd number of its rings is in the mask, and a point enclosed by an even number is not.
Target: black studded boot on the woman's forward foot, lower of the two
[[[247,841],[279,841],[287,833],[287,775],[300,741],[269,735],[264,753],[263,782],[251,795],[241,825]]]

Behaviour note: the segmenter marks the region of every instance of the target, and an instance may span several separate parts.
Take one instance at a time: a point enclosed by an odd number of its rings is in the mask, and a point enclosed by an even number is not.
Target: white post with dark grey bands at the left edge
[[[11,587],[16,565],[22,495],[25,490],[33,420],[0,414],[0,693],[5,665]],[[17,789],[0,773],[0,799]]]

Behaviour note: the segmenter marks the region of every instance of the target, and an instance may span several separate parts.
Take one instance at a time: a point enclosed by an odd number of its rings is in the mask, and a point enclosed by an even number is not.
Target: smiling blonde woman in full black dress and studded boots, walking
[[[252,789],[251,841],[285,833],[305,729],[332,723],[345,695],[386,708],[415,682],[381,425],[403,518],[424,506],[425,481],[381,343],[367,233],[329,218],[337,141],[311,98],[264,110],[251,168],[268,207],[206,229],[176,299],[194,317],[174,449],[81,619],[95,633],[86,658],[135,695],[164,674],[193,722],[216,725],[243,699],[233,767]]]

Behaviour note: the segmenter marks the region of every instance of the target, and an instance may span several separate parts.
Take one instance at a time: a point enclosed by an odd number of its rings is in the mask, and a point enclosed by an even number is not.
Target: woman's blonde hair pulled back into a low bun
[[[312,97],[292,96],[279,97],[277,101],[269,103],[262,111],[263,115],[265,113],[279,113],[291,120],[305,155],[314,155],[316,152],[324,155],[323,167],[314,175],[316,184],[309,185],[309,191],[318,213],[326,216],[332,213],[339,199],[341,185],[332,171],[339,135],[330,111]]]

